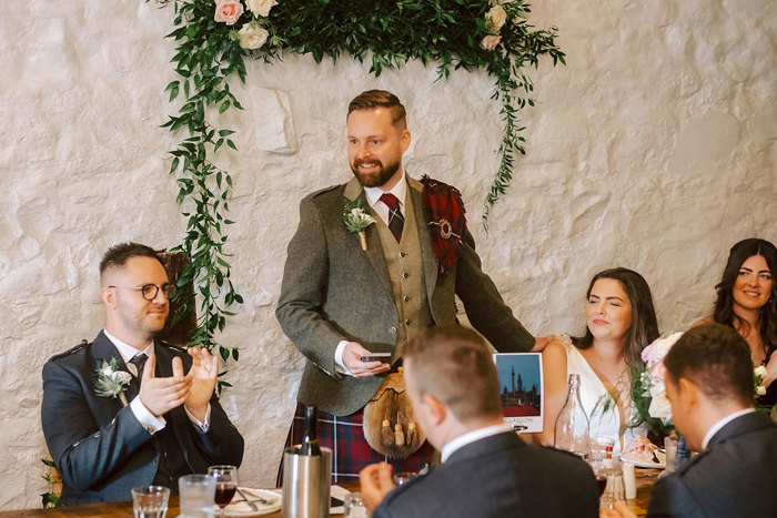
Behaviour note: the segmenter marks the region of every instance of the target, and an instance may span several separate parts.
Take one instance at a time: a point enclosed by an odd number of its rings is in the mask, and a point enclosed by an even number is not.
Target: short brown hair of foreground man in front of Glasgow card
[[[421,397],[443,402],[461,423],[502,415],[496,366],[485,341],[458,325],[430,327],[404,351]]]

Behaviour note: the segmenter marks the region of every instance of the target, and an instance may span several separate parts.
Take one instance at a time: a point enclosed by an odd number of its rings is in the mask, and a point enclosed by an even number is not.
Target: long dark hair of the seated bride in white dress
[[[628,326],[624,336],[624,353],[626,365],[636,367],[642,363],[642,349],[658,338],[658,322],[656,321],[656,311],[653,308],[650,287],[645,277],[633,270],[622,267],[605,270],[591,280],[588,291],[585,292],[586,299],[591,296],[591,291],[599,278],[618,281],[632,303],[632,325]],[[591,334],[588,326],[585,328],[585,334],[573,337],[572,343],[581,349],[591,347],[594,344],[594,335]]]

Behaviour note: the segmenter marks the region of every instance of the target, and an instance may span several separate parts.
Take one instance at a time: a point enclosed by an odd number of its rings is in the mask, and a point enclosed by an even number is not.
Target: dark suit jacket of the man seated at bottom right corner
[[[707,449],[653,488],[649,517],[777,516],[777,425],[760,413],[737,417]]]

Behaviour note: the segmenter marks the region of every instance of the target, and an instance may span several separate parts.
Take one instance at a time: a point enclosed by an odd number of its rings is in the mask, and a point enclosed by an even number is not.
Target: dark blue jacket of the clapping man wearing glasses
[[[191,356],[179,347],[157,343],[157,376],[172,375],[172,358]],[[119,398],[94,394],[95,369],[115,358],[127,370],[119,351],[100,332],[93,343],[53,356],[43,366],[43,435],[62,477],[60,505],[130,500],[130,489],[149,485],[159,466],[160,451],[151,434]],[[129,402],[128,402],[129,403]],[[164,414],[167,427],[184,454],[191,473],[208,473],[214,464],[240,465],[243,438],[213,395],[208,433],[201,433],[183,406]]]

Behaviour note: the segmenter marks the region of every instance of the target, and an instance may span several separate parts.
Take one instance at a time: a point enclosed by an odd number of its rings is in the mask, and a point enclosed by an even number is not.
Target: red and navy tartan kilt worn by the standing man
[[[321,446],[332,449],[332,481],[353,480],[359,471],[375,463],[386,461],[394,473],[420,471],[432,458],[434,448],[424,441],[421,448],[406,459],[385,457],[370,447],[362,429],[363,409],[350,416],[334,416],[319,410],[319,440]],[[292,420],[286,448],[302,443],[304,434],[305,407],[297,403]],[[283,483],[283,459],[278,473],[278,486]]]

